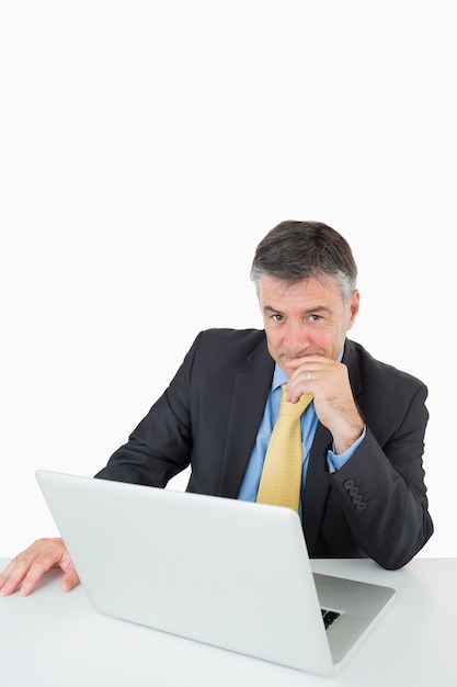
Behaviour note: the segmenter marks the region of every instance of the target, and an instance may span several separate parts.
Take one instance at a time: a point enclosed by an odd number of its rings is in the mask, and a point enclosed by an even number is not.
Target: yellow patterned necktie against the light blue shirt
[[[289,403],[286,395],[283,384],[279,415],[266,450],[258,503],[287,506],[298,511],[302,472],[300,417],[312,396],[304,394],[298,403]]]

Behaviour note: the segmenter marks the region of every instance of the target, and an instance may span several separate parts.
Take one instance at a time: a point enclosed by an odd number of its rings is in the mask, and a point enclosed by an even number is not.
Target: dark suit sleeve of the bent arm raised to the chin
[[[386,408],[389,420],[374,419],[373,429],[368,419],[354,455],[330,475],[354,540],[389,570],[405,565],[433,533],[422,464],[426,393],[421,384],[408,405]]]

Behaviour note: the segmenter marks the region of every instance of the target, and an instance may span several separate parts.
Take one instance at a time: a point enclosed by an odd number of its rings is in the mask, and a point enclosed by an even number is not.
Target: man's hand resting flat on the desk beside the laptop
[[[78,573],[61,539],[38,539],[16,555],[0,575],[0,596],[19,589],[21,596],[34,590],[38,579],[52,567],[61,567],[61,588],[70,592],[79,583]]]

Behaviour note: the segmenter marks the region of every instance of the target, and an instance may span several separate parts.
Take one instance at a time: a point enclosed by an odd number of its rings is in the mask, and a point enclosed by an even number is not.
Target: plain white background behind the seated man
[[[37,468],[92,475],[201,329],[262,326],[250,262],[288,218],[350,240],[352,338],[429,385],[421,555],[457,555],[456,19],[0,0],[0,555],[56,533]]]

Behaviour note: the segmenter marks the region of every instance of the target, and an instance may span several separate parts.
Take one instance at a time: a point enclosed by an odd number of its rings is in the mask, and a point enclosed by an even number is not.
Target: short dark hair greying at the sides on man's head
[[[290,284],[311,278],[333,279],[347,304],[356,286],[357,266],[349,243],[335,229],[322,222],[288,219],[256,247],[251,279],[258,290],[263,274]]]

